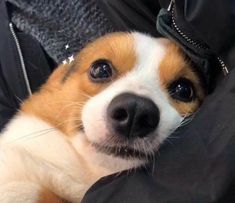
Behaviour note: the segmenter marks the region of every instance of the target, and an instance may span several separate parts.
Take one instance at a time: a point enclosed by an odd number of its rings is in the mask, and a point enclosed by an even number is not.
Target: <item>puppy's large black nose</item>
[[[109,130],[114,134],[142,138],[156,129],[160,113],[150,99],[123,93],[110,102],[107,117]]]

